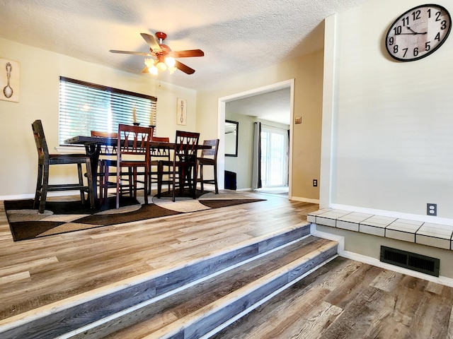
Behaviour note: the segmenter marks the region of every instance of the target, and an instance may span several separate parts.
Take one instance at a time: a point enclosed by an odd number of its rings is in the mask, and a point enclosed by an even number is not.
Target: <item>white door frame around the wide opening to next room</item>
[[[227,95],[226,97],[219,97],[217,107],[217,135],[219,136],[219,153],[217,155],[217,178],[219,181],[219,189],[224,189],[224,172],[225,172],[225,105],[226,102],[243,99],[244,97],[252,97],[253,95],[260,95],[263,93],[273,92],[275,90],[281,90],[282,88],[290,89],[289,97],[289,160],[288,160],[288,198],[292,198],[292,133],[294,120],[294,78],[280,81],[279,83],[273,83],[253,90],[246,90],[245,92],[236,93],[233,95]]]

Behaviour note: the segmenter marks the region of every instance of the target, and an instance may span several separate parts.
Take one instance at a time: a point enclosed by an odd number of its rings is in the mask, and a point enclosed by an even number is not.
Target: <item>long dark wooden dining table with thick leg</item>
[[[91,160],[91,174],[93,176],[93,196],[96,205],[99,204],[98,180],[95,179],[98,177],[98,166],[93,164],[98,164],[99,155],[101,154],[101,149],[103,147],[116,146],[117,142],[117,138],[108,138],[101,136],[73,136],[72,138],[67,138],[64,141],[64,143],[67,145],[84,145],[86,155],[88,155]],[[150,141],[149,148],[172,150],[175,148],[175,143],[167,143],[164,141]],[[211,148],[210,145],[197,145],[197,150],[209,148]]]

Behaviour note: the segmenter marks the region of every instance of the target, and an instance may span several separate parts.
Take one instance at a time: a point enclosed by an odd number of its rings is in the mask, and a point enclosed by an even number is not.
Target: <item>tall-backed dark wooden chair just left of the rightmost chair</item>
[[[172,200],[176,201],[176,184],[179,186],[179,194],[182,195],[184,187],[189,186],[193,198],[196,195],[197,177],[197,150],[200,133],[176,131],[175,145],[173,148],[173,160],[159,160],[157,198],[161,198],[162,184],[164,183],[164,167],[170,168],[168,183],[172,189]],[[194,173],[194,174],[193,174]]]

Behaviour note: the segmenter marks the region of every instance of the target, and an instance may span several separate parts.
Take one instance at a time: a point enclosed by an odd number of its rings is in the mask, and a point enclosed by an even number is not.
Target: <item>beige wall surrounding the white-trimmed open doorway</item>
[[[292,198],[317,201],[319,187],[313,187],[312,182],[313,179],[319,179],[321,163],[322,51],[234,78],[231,81],[219,81],[210,91],[199,91],[197,93],[197,128],[204,138],[210,138],[217,132],[213,131],[212,126],[218,124],[218,98],[292,78],[294,78],[294,117],[302,117],[302,124],[292,123],[294,146],[292,148],[292,183],[290,183]],[[237,172],[234,168],[229,170]]]

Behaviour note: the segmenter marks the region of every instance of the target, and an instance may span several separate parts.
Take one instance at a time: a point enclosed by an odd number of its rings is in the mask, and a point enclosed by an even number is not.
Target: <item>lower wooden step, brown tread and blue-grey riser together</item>
[[[336,251],[336,242],[304,237],[71,338],[210,335],[336,257]]]

